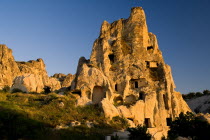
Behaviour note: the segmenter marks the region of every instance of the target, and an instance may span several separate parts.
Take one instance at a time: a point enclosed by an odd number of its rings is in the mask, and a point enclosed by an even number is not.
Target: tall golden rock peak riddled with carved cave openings
[[[72,89],[102,104],[108,118],[119,114],[135,125],[147,125],[156,139],[166,135],[171,119],[190,111],[174,90],[171,68],[163,60],[156,36],[148,32],[141,7],[133,8],[128,19],[103,22],[90,60],[79,61]],[[118,113],[110,114],[108,103]]]

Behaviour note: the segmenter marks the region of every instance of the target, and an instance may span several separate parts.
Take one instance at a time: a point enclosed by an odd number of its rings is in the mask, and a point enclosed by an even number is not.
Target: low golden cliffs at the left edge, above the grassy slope
[[[24,92],[42,92],[45,86],[52,90],[61,88],[56,78],[48,77],[42,59],[28,62],[16,62],[12,50],[6,45],[0,45],[0,88],[10,86]]]

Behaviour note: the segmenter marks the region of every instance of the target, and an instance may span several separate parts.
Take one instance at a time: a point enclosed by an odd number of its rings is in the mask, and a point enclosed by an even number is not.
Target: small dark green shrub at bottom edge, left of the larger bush
[[[151,140],[151,134],[147,133],[147,127],[138,125],[136,128],[128,128],[129,140]]]

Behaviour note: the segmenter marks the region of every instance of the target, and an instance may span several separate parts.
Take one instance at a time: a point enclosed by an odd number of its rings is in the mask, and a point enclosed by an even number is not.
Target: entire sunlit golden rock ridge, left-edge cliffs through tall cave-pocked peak
[[[0,88],[40,93],[44,87],[68,87],[77,106],[98,106],[106,119],[124,118],[131,127],[145,125],[158,140],[181,112],[191,111],[175,91],[171,68],[141,7],[132,8],[128,19],[103,22],[90,59],[80,58],[75,75],[49,77],[42,59],[16,62],[5,45],[0,45],[0,71]]]

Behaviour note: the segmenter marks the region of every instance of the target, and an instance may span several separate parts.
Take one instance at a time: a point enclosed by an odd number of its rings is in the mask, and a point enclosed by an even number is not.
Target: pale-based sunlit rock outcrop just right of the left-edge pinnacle
[[[42,59],[28,62],[17,62],[21,75],[13,81],[12,89],[18,88],[24,92],[42,92],[45,86],[52,91],[61,88],[60,82],[54,77],[48,77],[44,61]]]

